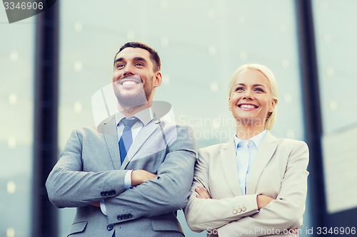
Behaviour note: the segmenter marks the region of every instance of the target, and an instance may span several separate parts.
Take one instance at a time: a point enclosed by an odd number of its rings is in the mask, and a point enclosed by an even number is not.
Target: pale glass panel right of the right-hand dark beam
[[[357,1],[313,1],[329,214],[357,207]],[[341,201],[343,200],[343,201]]]

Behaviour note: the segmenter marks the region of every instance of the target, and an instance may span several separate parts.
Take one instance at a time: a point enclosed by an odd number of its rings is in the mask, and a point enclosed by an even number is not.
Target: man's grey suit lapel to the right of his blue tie
[[[126,155],[126,159],[124,159],[124,163],[121,165],[121,169],[125,169],[129,164],[130,160],[134,157],[134,155],[139,152],[140,147],[146,142],[147,139],[154,133],[154,131],[159,127],[158,120],[151,120],[148,125],[141,128],[138,135],[136,135],[133,144]]]

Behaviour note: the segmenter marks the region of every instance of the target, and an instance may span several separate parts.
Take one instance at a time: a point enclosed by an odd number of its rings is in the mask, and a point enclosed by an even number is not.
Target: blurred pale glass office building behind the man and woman
[[[261,63],[278,81],[271,132],[311,147],[301,236],[315,236],[308,230],[316,234],[318,227],[357,227],[357,1],[64,0],[54,7],[57,157],[71,130],[94,125],[91,98],[111,83],[114,55],[126,41],[159,52],[163,83],[155,100],[170,102],[175,119],[193,127],[198,148],[233,135],[228,81],[239,65]],[[39,17],[9,24],[0,7],[0,236],[6,237],[46,236],[31,227],[41,216],[33,206],[34,192],[44,190],[36,189],[38,177],[47,175],[37,172],[35,150]],[[66,236],[74,213],[58,211],[52,223],[58,236]],[[206,236],[190,231],[181,211],[178,217],[186,236]]]

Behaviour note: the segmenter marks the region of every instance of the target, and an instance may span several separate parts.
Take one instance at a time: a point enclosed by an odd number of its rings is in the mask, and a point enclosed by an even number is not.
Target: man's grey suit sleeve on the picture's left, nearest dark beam
[[[50,201],[59,208],[86,206],[125,191],[127,171],[86,172],[82,157],[84,135],[74,131],[46,181]]]

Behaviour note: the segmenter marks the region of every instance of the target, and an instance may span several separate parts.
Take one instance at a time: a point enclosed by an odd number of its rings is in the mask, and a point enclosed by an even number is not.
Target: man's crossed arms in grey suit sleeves
[[[46,181],[49,199],[57,207],[96,205],[105,199],[109,223],[126,220],[116,218],[131,214],[158,216],[186,205],[196,162],[195,144],[191,130],[180,129],[180,135],[169,145],[164,162],[156,174],[137,169],[131,173],[130,189],[124,187],[126,170],[85,172],[83,136],[72,132],[59,162]],[[98,164],[99,165],[99,164]],[[102,196],[103,190],[111,190]]]

